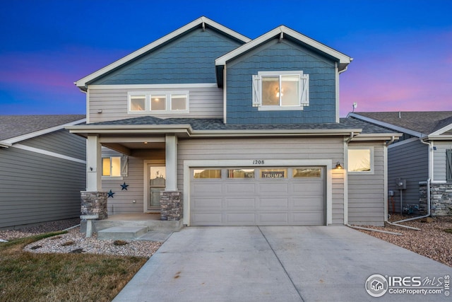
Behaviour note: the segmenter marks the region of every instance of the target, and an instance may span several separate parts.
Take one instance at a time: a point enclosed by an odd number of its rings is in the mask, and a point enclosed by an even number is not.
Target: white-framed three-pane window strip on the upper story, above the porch
[[[189,113],[189,91],[132,91],[127,97],[129,114]]]

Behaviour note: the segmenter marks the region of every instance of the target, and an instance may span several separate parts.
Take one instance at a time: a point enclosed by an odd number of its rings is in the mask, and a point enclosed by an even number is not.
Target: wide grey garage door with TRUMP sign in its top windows
[[[193,226],[325,225],[323,167],[192,168]]]

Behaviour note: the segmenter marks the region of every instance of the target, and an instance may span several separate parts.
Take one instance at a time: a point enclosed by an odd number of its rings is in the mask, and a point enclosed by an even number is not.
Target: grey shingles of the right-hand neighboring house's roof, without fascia
[[[452,111],[355,112],[355,114],[422,134],[431,134],[452,123]]]

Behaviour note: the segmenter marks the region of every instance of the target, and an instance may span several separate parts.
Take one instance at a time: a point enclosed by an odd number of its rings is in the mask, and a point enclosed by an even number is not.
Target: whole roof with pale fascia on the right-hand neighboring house
[[[350,113],[349,117],[415,137],[439,135],[452,129],[452,111],[355,112]]]

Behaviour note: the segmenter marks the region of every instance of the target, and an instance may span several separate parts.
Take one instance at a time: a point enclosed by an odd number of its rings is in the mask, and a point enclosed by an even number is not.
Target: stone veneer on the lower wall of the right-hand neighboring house
[[[427,184],[419,185],[420,212],[427,214]],[[430,184],[431,216],[452,216],[452,182]]]

